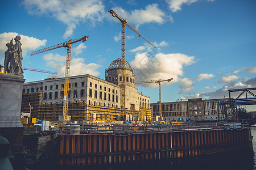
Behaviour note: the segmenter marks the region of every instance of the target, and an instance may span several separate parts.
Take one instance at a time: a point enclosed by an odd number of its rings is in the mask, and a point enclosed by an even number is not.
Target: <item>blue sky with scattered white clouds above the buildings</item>
[[[255,8],[254,0],[2,1],[0,64],[6,44],[20,35],[22,66],[57,73],[24,70],[26,82],[63,77],[66,48],[30,54],[88,35],[72,44],[70,75],[105,79],[105,69],[121,58],[121,22],[109,14],[113,9],[156,46],[126,27],[126,61],[136,81],[173,78],[161,84],[162,102],[228,97],[228,90],[256,87]],[[137,87],[150,103],[159,101],[157,84]]]

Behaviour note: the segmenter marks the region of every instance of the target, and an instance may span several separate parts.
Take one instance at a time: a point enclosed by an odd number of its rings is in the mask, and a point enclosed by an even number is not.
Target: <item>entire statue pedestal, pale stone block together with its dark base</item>
[[[20,121],[23,75],[0,74],[0,133],[13,152],[23,150],[23,125]]]

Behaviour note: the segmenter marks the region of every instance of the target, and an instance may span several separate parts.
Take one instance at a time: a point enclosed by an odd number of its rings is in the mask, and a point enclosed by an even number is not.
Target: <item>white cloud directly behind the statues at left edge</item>
[[[13,39],[13,44],[15,44],[14,38],[19,35],[19,33],[16,32],[3,32],[0,34],[0,53],[5,54],[7,47],[6,44],[10,42],[11,39]],[[39,40],[35,37],[29,37],[26,35],[19,35],[21,37],[20,42],[22,44],[22,55],[23,57],[27,55],[28,52],[31,50],[35,50],[36,48],[39,48],[39,46],[46,45],[47,40]],[[0,57],[0,61],[4,58],[4,55]]]

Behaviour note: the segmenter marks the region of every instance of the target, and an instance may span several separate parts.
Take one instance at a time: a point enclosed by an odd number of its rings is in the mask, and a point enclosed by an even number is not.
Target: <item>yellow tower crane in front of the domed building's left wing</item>
[[[64,116],[64,120],[65,122],[68,122],[68,86],[69,86],[69,73],[70,73],[70,62],[71,62],[71,44],[74,44],[75,42],[79,42],[79,41],[86,41],[88,38],[88,36],[84,36],[81,39],[72,41],[69,40],[67,42],[62,42],[60,44],[57,45],[53,45],[53,46],[49,46],[47,48],[43,48],[40,50],[37,50],[35,52],[31,53],[31,56],[35,55],[35,54],[39,54],[39,53],[44,53],[44,52],[48,52],[49,50],[53,50],[56,48],[61,48],[61,47],[67,47],[67,57],[66,57],[66,66],[65,66],[65,84],[64,84],[64,103],[63,103],[63,116]]]

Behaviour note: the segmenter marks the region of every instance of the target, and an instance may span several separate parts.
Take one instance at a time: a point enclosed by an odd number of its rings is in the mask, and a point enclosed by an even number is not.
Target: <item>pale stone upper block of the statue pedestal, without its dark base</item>
[[[0,128],[23,127],[20,121],[23,75],[0,74]]]

